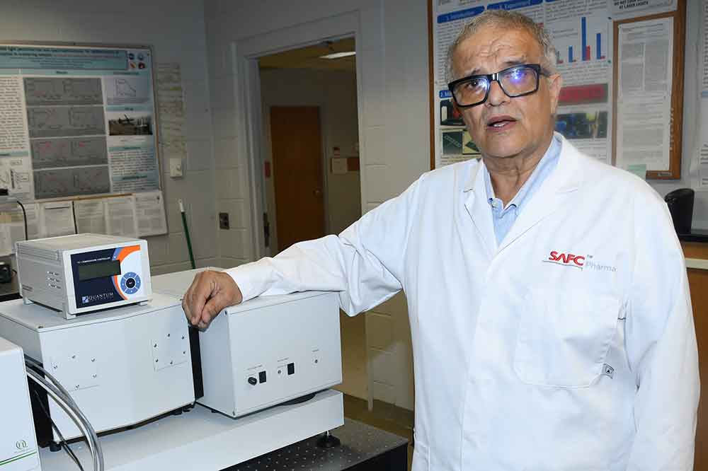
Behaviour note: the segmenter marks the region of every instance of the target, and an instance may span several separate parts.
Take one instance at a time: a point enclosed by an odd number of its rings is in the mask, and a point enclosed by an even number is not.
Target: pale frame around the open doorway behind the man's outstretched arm
[[[231,54],[236,78],[236,129],[238,149],[246,156],[249,175],[249,196],[251,200],[251,240],[253,259],[265,256],[265,240],[263,238],[263,209],[265,208],[265,178],[263,175],[263,104],[261,103],[261,76],[258,71],[258,58],[277,52],[297,49],[318,44],[324,40],[336,40],[342,37],[355,38],[355,50],[361,57],[361,28],[358,11],[323,18],[318,21],[302,23],[290,28],[276,30],[263,35],[239,40],[231,43]],[[364,136],[363,96],[362,96],[362,66],[360,60],[356,64],[357,78],[357,108],[359,139]],[[326,112],[326,110],[321,109]],[[324,113],[321,115],[324,119]],[[322,139],[326,146],[326,139]],[[323,152],[323,184],[326,185],[326,147]],[[360,161],[365,162],[365,146],[360,145]],[[362,165],[363,166],[363,165]],[[362,203],[365,201],[364,172],[360,173]],[[364,208],[362,204],[362,209]],[[328,221],[326,221],[328,222]]]

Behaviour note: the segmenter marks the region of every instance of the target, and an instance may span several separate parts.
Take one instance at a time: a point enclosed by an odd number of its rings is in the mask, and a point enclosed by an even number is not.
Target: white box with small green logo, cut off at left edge
[[[0,469],[40,470],[22,349],[0,337]]]

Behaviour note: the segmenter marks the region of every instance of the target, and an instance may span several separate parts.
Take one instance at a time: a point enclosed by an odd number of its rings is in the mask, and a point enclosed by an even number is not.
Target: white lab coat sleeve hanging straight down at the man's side
[[[639,199],[625,325],[637,385],[627,470],[690,471],[700,379],[685,260],[666,204]]]

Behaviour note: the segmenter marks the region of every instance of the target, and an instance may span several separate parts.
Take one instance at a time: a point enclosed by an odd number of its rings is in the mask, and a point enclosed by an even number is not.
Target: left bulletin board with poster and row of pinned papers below
[[[23,209],[0,207],[0,255],[24,238],[167,232],[155,71],[147,45],[0,42],[0,188]]]

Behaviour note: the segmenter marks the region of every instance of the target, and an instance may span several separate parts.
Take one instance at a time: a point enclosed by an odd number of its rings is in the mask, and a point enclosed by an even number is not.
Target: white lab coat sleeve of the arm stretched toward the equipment
[[[227,273],[244,301],[261,294],[339,291],[341,308],[349,315],[373,308],[401,290],[420,182],[369,211],[339,236],[297,243],[275,257]]]

